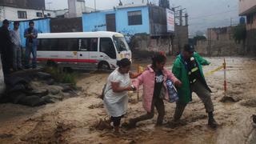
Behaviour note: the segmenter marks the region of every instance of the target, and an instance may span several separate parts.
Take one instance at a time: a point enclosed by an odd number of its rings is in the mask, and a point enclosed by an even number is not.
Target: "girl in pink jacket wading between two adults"
[[[170,78],[175,86],[181,86],[174,74],[167,70],[164,66],[166,64],[166,56],[164,54],[157,54],[152,58],[152,65],[133,81],[133,85],[138,90],[139,86],[143,84],[142,104],[146,110],[146,114],[130,119],[129,127],[135,127],[136,123],[154,117],[154,106],[158,110],[157,126],[162,125],[165,115],[165,106],[163,99],[168,100],[168,92],[166,87],[166,79]]]

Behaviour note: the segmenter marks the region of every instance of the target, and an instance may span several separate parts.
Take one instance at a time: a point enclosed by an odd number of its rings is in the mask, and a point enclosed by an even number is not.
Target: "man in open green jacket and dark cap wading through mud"
[[[210,99],[211,90],[206,84],[202,72],[202,66],[209,65],[199,54],[194,52],[193,46],[185,45],[181,54],[174,61],[173,74],[182,82],[182,87],[178,87],[179,100],[176,102],[176,109],[173,122],[178,122],[182,117],[186,104],[192,101],[192,92],[196,93],[205,105],[208,113],[208,125],[217,127],[214,120],[214,105]]]

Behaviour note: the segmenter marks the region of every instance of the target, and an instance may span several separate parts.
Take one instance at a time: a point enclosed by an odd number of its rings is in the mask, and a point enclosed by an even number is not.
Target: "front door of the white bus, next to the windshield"
[[[116,65],[117,54],[114,48],[114,43],[111,38],[100,38],[99,43],[99,59],[109,63],[110,67]]]

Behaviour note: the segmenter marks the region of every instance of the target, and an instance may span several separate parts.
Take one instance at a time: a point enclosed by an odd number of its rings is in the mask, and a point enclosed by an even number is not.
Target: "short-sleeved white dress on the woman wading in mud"
[[[128,105],[128,92],[123,91],[120,93],[114,93],[112,90],[111,82],[119,82],[120,87],[130,86],[129,74],[121,74],[118,69],[114,70],[107,78],[104,106],[107,113],[112,117],[120,117],[126,114]]]

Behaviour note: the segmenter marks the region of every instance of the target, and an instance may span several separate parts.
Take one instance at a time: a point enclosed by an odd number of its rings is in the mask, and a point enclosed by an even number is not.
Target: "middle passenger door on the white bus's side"
[[[78,66],[90,66],[90,38],[79,38],[78,44]]]

